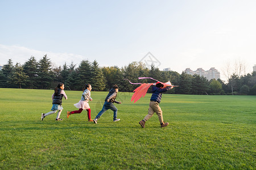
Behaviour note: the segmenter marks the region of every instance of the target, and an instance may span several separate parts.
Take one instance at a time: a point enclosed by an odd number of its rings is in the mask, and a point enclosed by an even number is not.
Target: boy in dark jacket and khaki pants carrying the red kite
[[[163,122],[163,112],[162,109],[159,107],[159,103],[162,99],[162,92],[166,92],[168,90],[171,90],[173,87],[168,86],[166,88],[163,88],[163,84],[157,83],[155,86],[152,87],[152,96],[150,99],[150,107],[148,108],[148,114],[142,121],[139,122],[139,124],[142,126],[142,128],[145,128],[145,122],[150,119],[150,117],[153,116],[154,113],[158,115],[161,128],[164,128],[169,125],[168,122]]]

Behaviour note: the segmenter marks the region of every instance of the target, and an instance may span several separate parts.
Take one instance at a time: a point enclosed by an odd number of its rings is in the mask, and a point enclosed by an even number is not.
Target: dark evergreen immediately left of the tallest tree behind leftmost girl
[[[26,87],[36,88],[38,81],[38,62],[34,56],[31,56],[30,59],[23,64],[23,71],[28,76]]]

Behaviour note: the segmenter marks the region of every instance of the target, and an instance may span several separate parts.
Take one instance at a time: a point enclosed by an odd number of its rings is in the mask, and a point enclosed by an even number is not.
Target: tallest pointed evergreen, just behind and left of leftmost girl
[[[52,80],[51,61],[46,54],[38,63],[38,87],[48,88]]]

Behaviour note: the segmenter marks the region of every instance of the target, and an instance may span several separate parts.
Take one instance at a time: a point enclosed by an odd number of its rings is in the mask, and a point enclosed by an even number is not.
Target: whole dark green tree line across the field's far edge
[[[132,62],[119,68],[118,66],[100,67],[94,60],[82,60],[63,66],[53,66],[47,55],[39,61],[31,56],[23,65],[13,65],[11,59],[0,70],[1,88],[33,88],[52,89],[63,82],[65,90],[81,90],[85,83],[92,84],[93,91],[108,91],[117,84],[119,91],[132,92],[136,87],[131,82],[151,83],[151,79],[138,80],[138,77],[152,77],[160,82],[171,81],[179,87],[168,91],[170,94],[191,95],[256,95],[256,72],[247,75],[233,73],[228,83],[221,79],[207,80],[203,76],[177,73],[176,71],[160,71],[154,65],[150,69],[141,62]],[[150,91],[149,91],[150,92]]]

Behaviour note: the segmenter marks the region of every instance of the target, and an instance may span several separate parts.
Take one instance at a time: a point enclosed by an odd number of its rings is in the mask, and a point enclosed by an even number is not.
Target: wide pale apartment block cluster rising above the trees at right
[[[196,71],[191,70],[190,68],[185,69],[184,71],[187,74],[190,75],[200,75],[200,76],[204,76],[205,78],[207,78],[208,80],[211,79],[219,79],[220,78],[220,72],[215,69],[214,67],[210,68],[210,70],[205,71],[202,68],[198,68]]]

